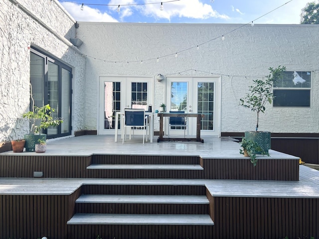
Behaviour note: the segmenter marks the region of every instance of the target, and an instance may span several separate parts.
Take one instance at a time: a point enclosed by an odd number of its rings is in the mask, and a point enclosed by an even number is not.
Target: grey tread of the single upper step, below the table
[[[87,169],[204,170],[199,164],[91,164]]]

